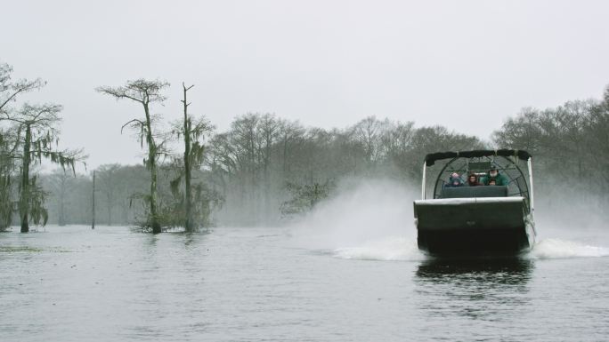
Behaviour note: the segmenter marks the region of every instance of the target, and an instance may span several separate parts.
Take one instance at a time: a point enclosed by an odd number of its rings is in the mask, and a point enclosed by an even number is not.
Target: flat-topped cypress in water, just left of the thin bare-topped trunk
[[[141,146],[143,147],[145,143],[146,147],[148,147],[148,157],[144,159],[144,165],[150,171],[150,195],[146,196],[144,199],[150,205],[150,213],[145,226],[151,227],[153,234],[161,232],[157,206],[157,162],[158,156],[162,154],[163,144],[162,142],[158,143],[158,137],[152,130],[154,117],[150,114],[150,103],[162,103],[166,97],[163,96],[161,92],[168,86],[168,83],[162,81],[138,79],[135,81],[127,81],[125,86],[103,86],[96,89],[96,91],[110,95],[115,99],[131,99],[140,103],[143,107],[144,117],[142,119],[135,118],[129,120],[123,125],[121,131],[126,126],[129,126],[138,132],[138,139]]]

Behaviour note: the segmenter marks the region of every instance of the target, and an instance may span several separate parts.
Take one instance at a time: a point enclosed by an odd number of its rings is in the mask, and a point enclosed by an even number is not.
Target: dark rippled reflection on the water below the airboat
[[[430,316],[501,321],[529,304],[533,260],[426,260],[415,282],[420,309]]]

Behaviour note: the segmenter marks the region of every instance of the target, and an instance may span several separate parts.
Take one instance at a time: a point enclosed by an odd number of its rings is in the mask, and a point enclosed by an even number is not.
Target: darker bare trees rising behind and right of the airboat
[[[535,187],[548,202],[609,203],[609,87],[602,99],[574,100],[546,109],[525,107],[493,133],[496,145],[533,155]],[[539,196],[538,196],[539,197]]]

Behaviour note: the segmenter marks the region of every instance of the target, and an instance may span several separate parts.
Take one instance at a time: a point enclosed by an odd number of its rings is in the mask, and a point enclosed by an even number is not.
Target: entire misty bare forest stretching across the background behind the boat
[[[19,225],[24,205],[30,211],[27,219],[34,223],[48,219],[59,225],[90,224],[93,170],[73,172],[83,151],[56,149],[61,107],[13,106],[17,95],[43,83],[12,82],[11,72],[8,65],[0,68],[0,228]],[[129,88],[132,84],[98,91],[119,98],[117,94],[127,94],[120,90],[133,90]],[[160,85],[154,89],[158,102],[164,99],[168,84]],[[609,87],[603,99],[575,100],[543,110],[524,108],[494,131],[491,141],[459,134],[450,127],[416,127],[413,122],[375,116],[343,129],[324,130],[272,114],[250,113],[236,117],[228,131],[215,131],[204,117],[191,118],[187,113],[188,89],[183,87],[184,107],[175,108],[184,112],[183,125],[165,123],[157,116],[150,118],[154,125],[146,126],[145,120],[138,119],[126,126],[141,133],[143,149],[157,148],[154,153],[148,149],[149,158],[142,165],[105,164],[94,170],[98,224],[146,226],[150,178],[154,177],[155,217],[161,226],[181,226],[180,220],[167,218],[183,217],[185,196],[191,197],[196,207],[191,210],[196,227],[277,225],[286,217],[311,210],[332,195],[337,182],[345,177],[386,178],[418,185],[427,153],[478,148],[528,150],[533,155],[538,200],[551,203],[556,195],[564,194],[568,184],[579,190],[569,194],[579,203],[599,209],[609,204]],[[136,93],[144,94],[143,105],[147,93]],[[132,99],[129,96],[120,99]],[[53,117],[28,133],[28,123],[32,125],[31,118],[38,112]],[[188,166],[184,161],[190,157],[185,155],[193,152],[165,150],[163,142],[170,139],[167,137],[183,139],[184,131],[180,130],[187,130],[190,120],[198,123],[200,130],[187,134],[194,139],[187,141],[187,151],[190,143],[198,155]],[[33,166],[43,159],[57,163],[58,169],[50,174],[30,171],[24,179],[26,162],[28,169],[32,166],[35,170]],[[186,195],[184,174],[189,168],[191,194]],[[28,198],[23,198],[24,191],[28,191]]]

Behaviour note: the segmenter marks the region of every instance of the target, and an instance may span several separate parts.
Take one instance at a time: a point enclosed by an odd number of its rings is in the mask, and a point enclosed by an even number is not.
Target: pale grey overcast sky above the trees
[[[369,115],[488,139],[522,107],[600,98],[609,84],[609,2],[4,1],[0,62],[42,77],[21,100],[64,106],[61,142],[89,170],[141,163],[120,127],[142,108],[94,91],[164,79],[167,120],[191,112],[226,130],[274,113],[306,126]]]

